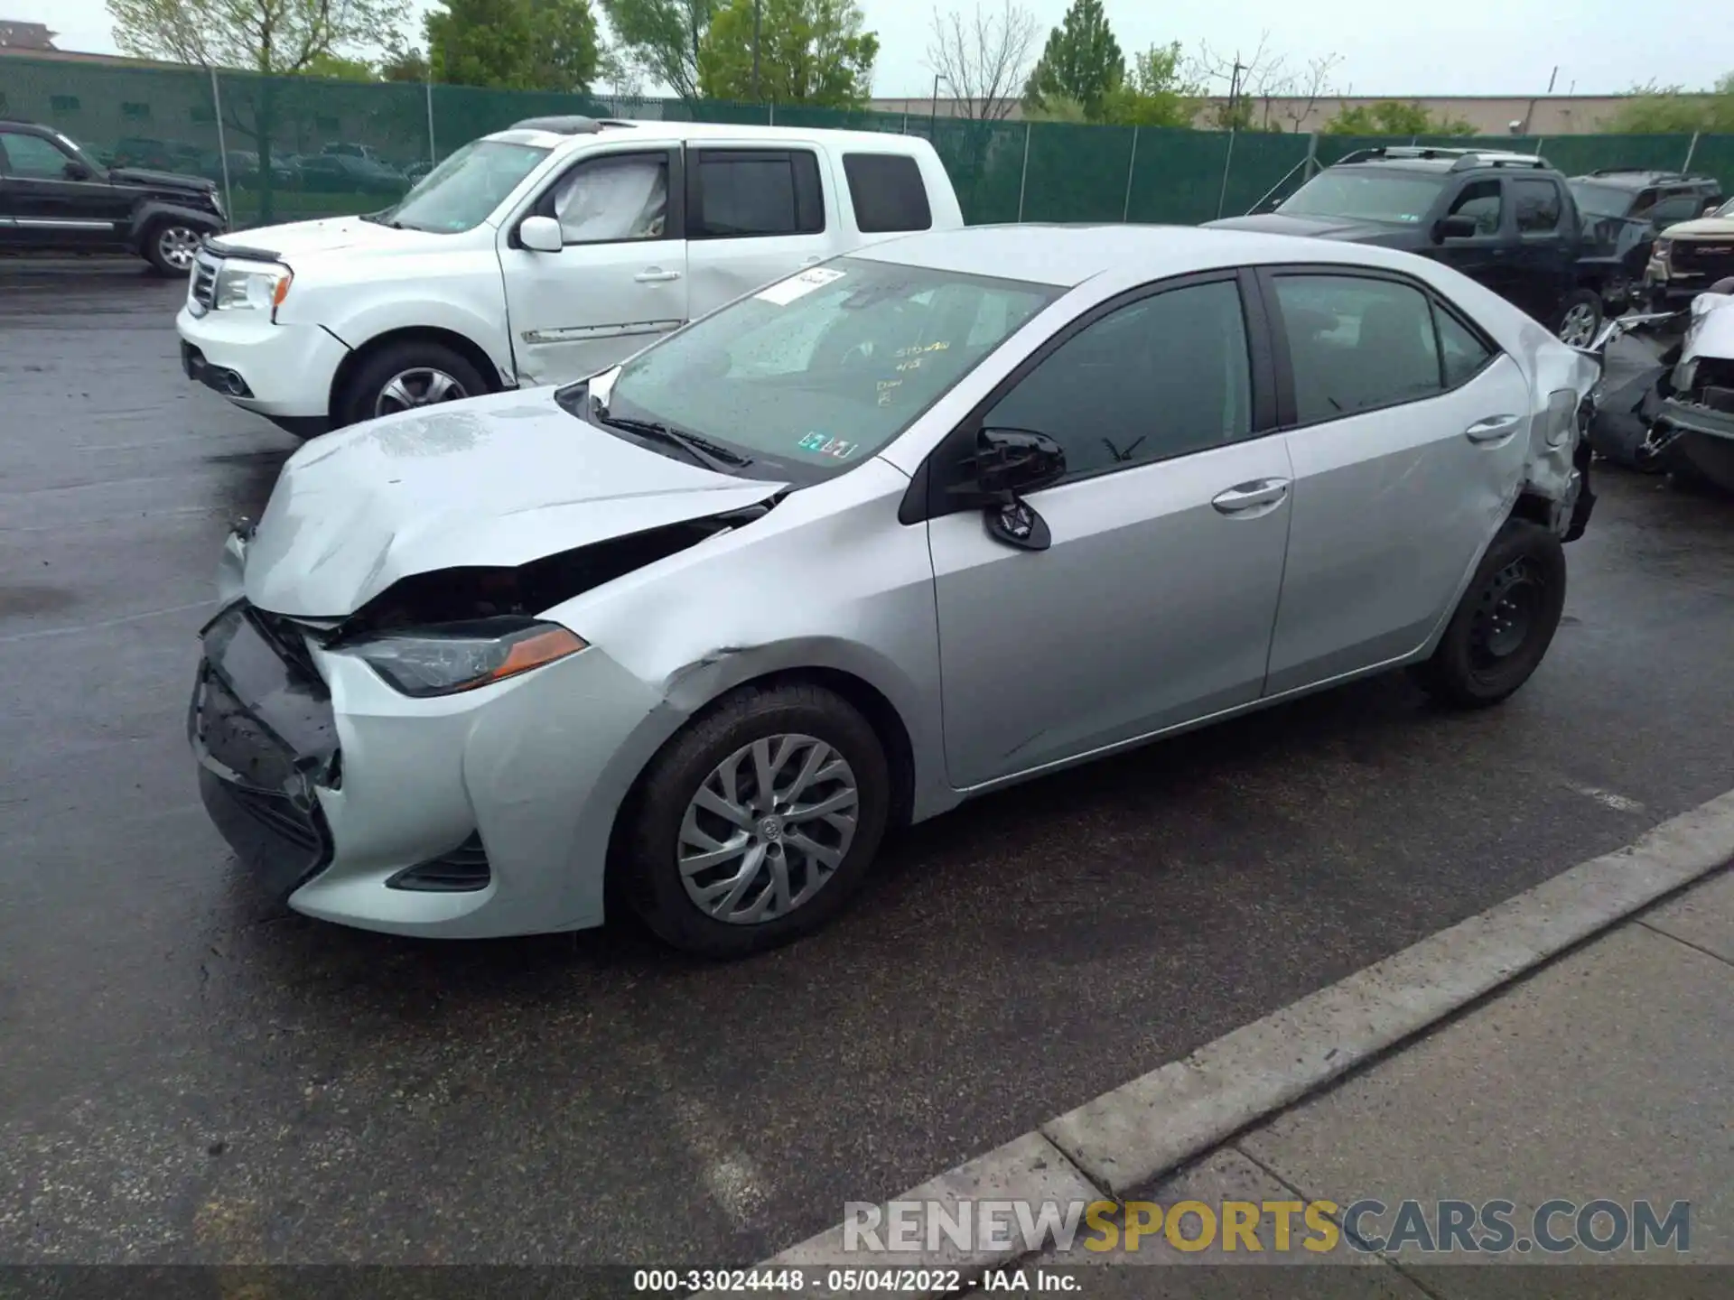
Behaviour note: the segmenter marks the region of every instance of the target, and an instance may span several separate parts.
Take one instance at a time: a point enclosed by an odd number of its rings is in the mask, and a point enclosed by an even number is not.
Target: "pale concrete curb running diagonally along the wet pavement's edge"
[[[1124,1198],[1460,1007],[1734,860],[1734,790],[1245,1024],[898,1199]],[[843,1250],[843,1225],[758,1265],[957,1269],[1020,1248]],[[824,1279],[820,1279],[824,1281]],[[817,1295],[827,1295],[824,1288]]]

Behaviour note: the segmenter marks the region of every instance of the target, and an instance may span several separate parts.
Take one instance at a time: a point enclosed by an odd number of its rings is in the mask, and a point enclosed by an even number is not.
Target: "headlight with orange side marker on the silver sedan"
[[[425,699],[505,681],[576,655],[586,645],[557,622],[506,617],[387,633],[343,650],[394,690]]]

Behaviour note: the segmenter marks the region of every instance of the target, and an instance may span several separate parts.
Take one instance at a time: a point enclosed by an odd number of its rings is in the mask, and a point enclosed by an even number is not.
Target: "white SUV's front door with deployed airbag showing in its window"
[[[501,231],[520,383],[581,380],[687,321],[680,161],[671,147],[614,149],[565,168],[525,213],[560,222],[558,253],[524,248],[517,222]]]

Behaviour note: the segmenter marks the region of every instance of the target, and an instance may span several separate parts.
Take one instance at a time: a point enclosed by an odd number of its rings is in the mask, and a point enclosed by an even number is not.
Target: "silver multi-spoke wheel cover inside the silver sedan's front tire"
[[[810,735],[742,745],[699,783],[680,823],[680,881],[714,920],[754,926],[808,903],[855,841],[848,759]]]

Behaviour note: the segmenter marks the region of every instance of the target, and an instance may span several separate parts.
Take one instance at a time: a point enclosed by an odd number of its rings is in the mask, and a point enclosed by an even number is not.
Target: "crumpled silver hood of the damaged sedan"
[[[345,617],[411,574],[517,567],[786,487],[647,451],[567,414],[553,392],[409,411],[309,442],[246,548],[246,598]]]

